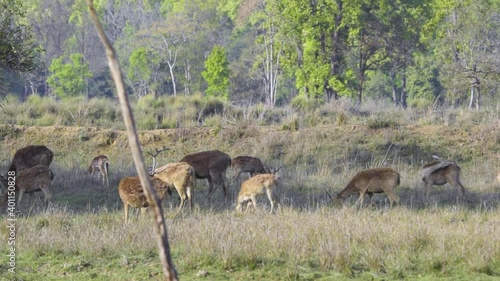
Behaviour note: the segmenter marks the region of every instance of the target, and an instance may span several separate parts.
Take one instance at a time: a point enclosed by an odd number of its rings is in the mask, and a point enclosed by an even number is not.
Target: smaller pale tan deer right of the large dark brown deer
[[[278,187],[279,176],[276,174],[281,167],[273,173],[258,174],[241,184],[241,190],[236,200],[236,210],[241,212],[243,204],[247,203],[245,210],[248,210],[250,205],[257,209],[257,195],[266,194],[271,203],[271,213],[274,211],[273,193]]]

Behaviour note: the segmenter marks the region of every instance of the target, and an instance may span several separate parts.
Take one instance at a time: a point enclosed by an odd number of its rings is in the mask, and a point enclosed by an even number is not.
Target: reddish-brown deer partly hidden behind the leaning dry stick
[[[156,190],[156,194],[160,200],[163,200],[169,193],[169,186],[162,180],[151,177],[151,183]],[[125,177],[118,184],[118,194],[123,202],[123,210],[125,212],[125,221],[128,220],[128,206],[141,208],[141,213],[149,207],[148,200],[144,194],[139,177]]]

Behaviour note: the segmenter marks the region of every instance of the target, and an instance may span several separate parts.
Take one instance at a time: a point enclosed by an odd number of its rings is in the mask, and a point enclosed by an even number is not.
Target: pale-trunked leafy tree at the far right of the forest
[[[448,97],[479,109],[482,89],[500,75],[500,13],[494,1],[455,1],[442,25],[441,68]],[[489,80],[490,79],[490,80]],[[490,84],[490,85],[489,85]],[[468,96],[468,98],[467,98]]]

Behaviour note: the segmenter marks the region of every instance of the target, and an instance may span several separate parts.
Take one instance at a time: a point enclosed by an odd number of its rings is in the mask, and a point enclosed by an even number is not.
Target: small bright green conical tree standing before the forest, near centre
[[[201,75],[208,84],[207,96],[229,98],[229,63],[223,47],[216,45],[212,49]]]

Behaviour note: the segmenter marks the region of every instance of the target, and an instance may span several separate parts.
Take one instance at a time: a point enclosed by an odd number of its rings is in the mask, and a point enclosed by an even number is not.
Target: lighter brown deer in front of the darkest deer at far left
[[[48,204],[52,199],[52,194],[50,193],[50,184],[54,179],[54,173],[45,165],[37,165],[26,170],[22,170],[15,175],[15,179],[10,179],[7,176],[0,175],[0,182],[7,189],[2,205],[7,202],[7,198],[12,195],[18,195],[19,204],[23,195],[25,193],[33,193],[36,191],[42,191],[45,195],[45,204]],[[8,181],[15,180],[15,194],[9,194]]]

